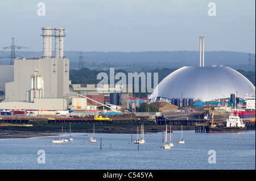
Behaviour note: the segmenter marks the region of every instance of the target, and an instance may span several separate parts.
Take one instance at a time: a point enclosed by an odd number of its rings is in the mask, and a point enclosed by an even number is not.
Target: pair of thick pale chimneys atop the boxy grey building
[[[65,35],[65,28],[51,28],[51,27],[43,27],[43,58],[51,58],[52,57],[52,36],[55,36],[55,58],[63,58],[64,56],[64,45],[63,45],[63,37]],[[52,35],[52,32],[55,32]]]

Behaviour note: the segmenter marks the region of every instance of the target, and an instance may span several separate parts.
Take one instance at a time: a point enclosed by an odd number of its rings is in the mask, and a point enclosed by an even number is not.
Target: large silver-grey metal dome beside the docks
[[[192,98],[208,101],[229,98],[238,93],[245,98],[255,86],[238,71],[229,67],[184,66],[164,78],[150,95],[150,102],[170,102],[174,98]],[[255,94],[255,93],[254,93]],[[167,99],[167,100],[166,100]]]

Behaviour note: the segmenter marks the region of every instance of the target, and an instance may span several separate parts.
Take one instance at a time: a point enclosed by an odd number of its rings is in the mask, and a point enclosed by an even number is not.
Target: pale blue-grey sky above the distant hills
[[[0,17],[1,49],[41,52],[41,28],[63,27],[69,51],[199,51],[204,36],[205,51],[255,53],[254,0],[0,0]]]

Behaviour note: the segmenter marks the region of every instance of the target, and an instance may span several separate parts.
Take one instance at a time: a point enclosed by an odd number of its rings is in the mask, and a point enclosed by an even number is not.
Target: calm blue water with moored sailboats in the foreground
[[[73,141],[49,144],[57,137],[0,140],[0,169],[255,169],[255,131],[245,133],[195,133],[184,131],[185,144],[176,144],[181,132],[172,133],[174,147],[160,148],[163,134],[144,134],[145,144],[131,142],[131,134],[73,133]],[[102,149],[100,149],[102,138]],[[133,140],[137,135],[133,134]],[[71,144],[70,144],[71,142]],[[68,144],[69,143],[69,144]],[[38,163],[44,150],[46,163]],[[209,163],[209,150],[216,163]]]

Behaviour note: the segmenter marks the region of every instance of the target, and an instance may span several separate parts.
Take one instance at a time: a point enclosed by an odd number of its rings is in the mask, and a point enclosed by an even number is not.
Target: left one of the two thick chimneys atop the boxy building
[[[43,58],[52,57],[52,28],[43,27]]]

